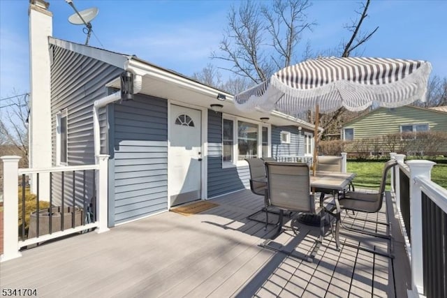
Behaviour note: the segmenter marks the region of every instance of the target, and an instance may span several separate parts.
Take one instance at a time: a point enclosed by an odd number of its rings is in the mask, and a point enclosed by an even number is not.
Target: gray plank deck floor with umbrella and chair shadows
[[[306,262],[259,246],[274,226],[265,231],[246,217],[263,198],[244,190],[212,201],[219,207],[202,214],[166,212],[22,251],[1,263],[1,288],[35,288],[38,297],[406,297],[410,270],[397,223],[394,259],[349,246],[336,251],[328,231],[314,262]],[[307,254],[317,235],[301,225],[298,236],[286,230],[274,242]],[[358,239],[389,248],[346,233],[342,244]]]

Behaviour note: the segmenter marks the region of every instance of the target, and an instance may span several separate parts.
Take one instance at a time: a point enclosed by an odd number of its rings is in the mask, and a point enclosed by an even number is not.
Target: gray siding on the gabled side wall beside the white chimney
[[[56,164],[57,112],[68,109],[68,165],[94,164],[93,117],[94,100],[107,96],[105,84],[115,79],[122,69],[86,57],[56,45],[51,46],[51,111],[52,111],[52,162]],[[101,147],[106,149],[106,114],[101,111]],[[82,172],[75,174],[75,201],[82,206],[84,198],[94,197],[94,171],[87,171],[87,192],[83,193]],[[64,201],[73,205],[73,173],[64,177]],[[52,198],[61,204],[61,174],[52,177]]]

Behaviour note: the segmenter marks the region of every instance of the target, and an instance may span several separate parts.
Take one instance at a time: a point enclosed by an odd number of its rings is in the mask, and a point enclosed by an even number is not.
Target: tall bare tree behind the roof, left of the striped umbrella
[[[213,59],[229,62],[235,75],[255,83],[266,80],[274,71],[295,62],[295,51],[304,31],[312,30],[307,22],[307,0],[275,0],[268,4],[245,1],[228,13],[228,28],[212,52]]]

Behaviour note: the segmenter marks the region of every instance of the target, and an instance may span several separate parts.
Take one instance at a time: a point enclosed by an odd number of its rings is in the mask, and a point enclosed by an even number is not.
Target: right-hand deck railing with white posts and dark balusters
[[[447,297],[447,190],[430,179],[432,161],[398,162],[392,176],[411,262],[409,297]]]

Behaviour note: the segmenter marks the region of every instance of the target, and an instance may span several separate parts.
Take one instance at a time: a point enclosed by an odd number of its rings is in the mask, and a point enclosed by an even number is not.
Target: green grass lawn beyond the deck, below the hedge
[[[348,161],[347,170],[357,174],[353,181],[355,186],[379,189],[384,164],[385,162]],[[437,164],[433,167],[432,180],[440,186],[447,188],[447,164]],[[388,179],[387,182],[387,189],[389,189],[390,180]]]

